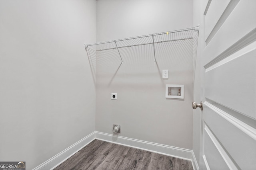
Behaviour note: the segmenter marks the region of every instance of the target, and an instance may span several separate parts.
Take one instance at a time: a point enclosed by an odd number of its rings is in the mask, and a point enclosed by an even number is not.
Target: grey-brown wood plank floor
[[[193,170],[192,162],[94,140],[54,170]]]

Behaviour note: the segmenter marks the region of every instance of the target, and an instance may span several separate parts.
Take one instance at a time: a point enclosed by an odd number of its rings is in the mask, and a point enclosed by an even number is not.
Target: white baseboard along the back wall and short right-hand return
[[[162,145],[158,143],[152,143],[147,141],[141,141],[137,139],[131,139],[127,137],[121,137],[117,135],[111,135],[108,133],[95,132],[95,138],[102,141],[107,141],[111,143],[116,143],[119,145],[124,145],[128,147],[133,147],[137,149],[147,150],[150,152],[155,152],[159,154],[164,154],[167,156],[172,156],[175,158],[181,158],[184,160],[192,161],[194,170],[196,170],[196,165],[194,164],[193,151],[189,149],[182,149],[178,147],[171,147],[168,145]]]

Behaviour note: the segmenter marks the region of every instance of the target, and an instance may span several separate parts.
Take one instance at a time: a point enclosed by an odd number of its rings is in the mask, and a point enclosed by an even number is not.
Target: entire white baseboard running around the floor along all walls
[[[167,156],[172,156],[175,158],[181,158],[184,160],[190,160],[193,165],[194,170],[199,170],[198,164],[196,162],[196,158],[194,155],[193,150],[189,149],[182,149],[178,147],[171,147],[168,145],[162,145],[158,143],[152,143],[147,141],[141,141],[138,139],[131,139],[128,137],[122,137],[117,135],[111,135],[108,133],[102,133],[102,132],[93,132],[90,135],[84,137],[74,145],[68,147],[67,149],[63,150],[59,154],[53,156],[46,162],[42,163],[41,165],[37,166],[33,170],[53,170],[58,165],[60,165],[62,162],[73,156],[76,152],[78,152],[80,149],[91,143],[94,139],[98,139],[101,141],[116,143],[119,145],[124,145],[127,147],[132,147],[136,149],[142,149],[150,152],[155,152],[159,154],[164,154]]]

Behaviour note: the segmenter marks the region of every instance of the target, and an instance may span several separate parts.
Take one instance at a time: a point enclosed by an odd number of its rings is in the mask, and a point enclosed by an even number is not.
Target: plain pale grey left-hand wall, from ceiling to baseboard
[[[0,160],[32,169],[95,130],[95,0],[0,0]]]

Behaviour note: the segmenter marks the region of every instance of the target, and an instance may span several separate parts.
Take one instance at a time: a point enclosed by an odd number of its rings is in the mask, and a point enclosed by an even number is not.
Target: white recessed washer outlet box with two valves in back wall
[[[166,84],[165,98],[184,99],[184,85]]]

